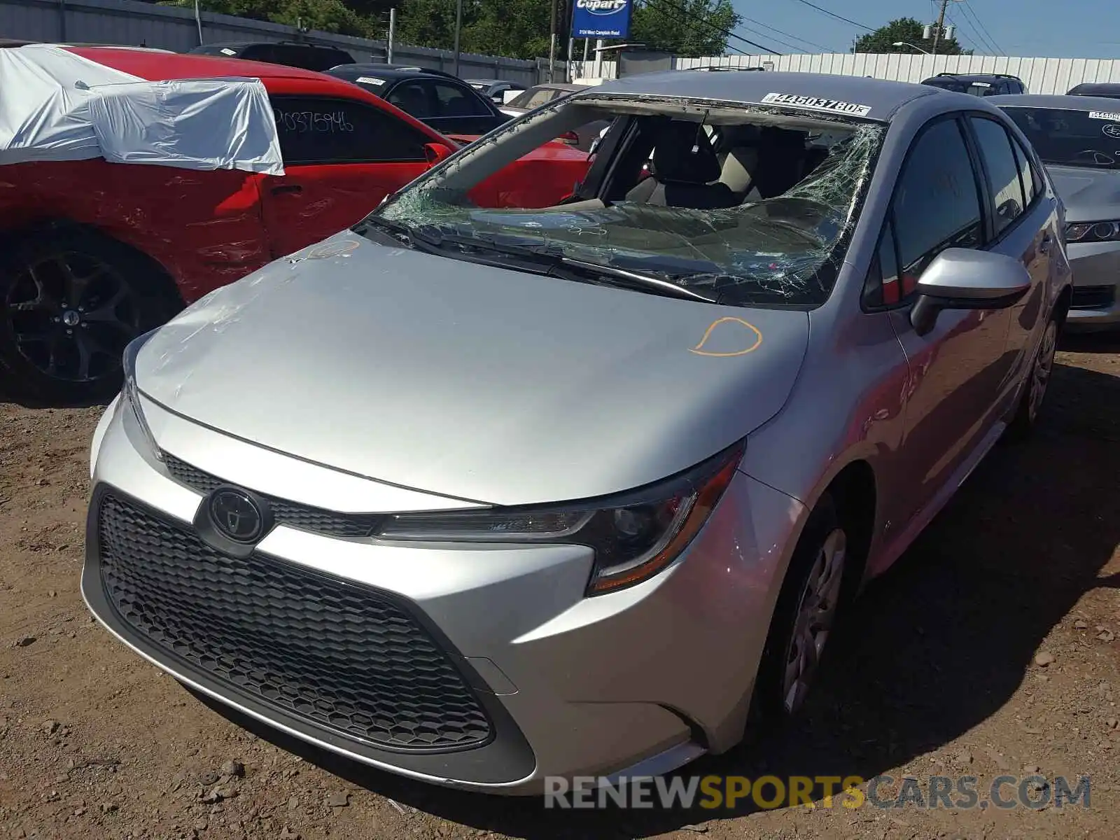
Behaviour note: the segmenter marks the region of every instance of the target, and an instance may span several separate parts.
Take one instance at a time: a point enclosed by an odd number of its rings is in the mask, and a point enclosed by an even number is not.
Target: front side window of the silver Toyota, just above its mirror
[[[979,186],[956,120],[928,125],[911,147],[892,217],[907,287],[946,248],[982,244]]]

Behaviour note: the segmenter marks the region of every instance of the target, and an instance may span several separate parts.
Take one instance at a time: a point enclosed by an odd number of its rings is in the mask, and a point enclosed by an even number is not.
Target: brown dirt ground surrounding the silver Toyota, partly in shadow
[[[1120,343],[1067,342],[1058,361],[1037,439],[997,447],[869,588],[804,722],[684,772],[970,774],[983,790],[1037,769],[1090,776],[1088,809],[545,811],[250,732],[118,644],[82,603],[100,409],[0,403],[0,837],[1114,840]]]

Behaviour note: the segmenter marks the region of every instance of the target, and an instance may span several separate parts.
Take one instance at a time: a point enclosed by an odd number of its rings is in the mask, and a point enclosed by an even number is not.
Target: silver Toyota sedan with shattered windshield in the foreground
[[[563,204],[468,198],[596,120]],[[197,691],[414,778],[725,752],[797,712],[838,612],[1035,422],[1062,230],[967,94],[576,93],[129,347],[86,601]]]

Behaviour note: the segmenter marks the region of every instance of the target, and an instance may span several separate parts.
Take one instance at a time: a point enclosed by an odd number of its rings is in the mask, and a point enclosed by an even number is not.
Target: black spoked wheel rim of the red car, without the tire
[[[124,278],[87,253],[25,263],[4,304],[17,351],[55,380],[93,382],[116,373],[124,346],[140,332]]]

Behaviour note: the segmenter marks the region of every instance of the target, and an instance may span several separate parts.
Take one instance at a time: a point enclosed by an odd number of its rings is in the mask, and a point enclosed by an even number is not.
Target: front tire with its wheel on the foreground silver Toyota
[[[804,707],[816,664],[849,595],[850,587],[846,586],[850,568],[846,562],[848,543],[849,534],[840,522],[832,497],[825,493],[809,515],[774,608],[755,681],[752,707],[756,720],[782,725],[795,718]],[[821,599],[818,606],[823,612],[818,613],[815,623],[806,620],[812,614],[806,604],[810,598]],[[814,624],[818,632],[810,645],[806,635]],[[800,679],[793,679],[793,671],[799,669]]]

